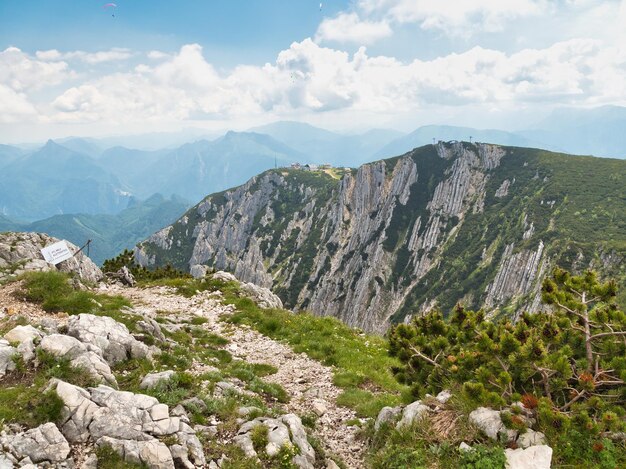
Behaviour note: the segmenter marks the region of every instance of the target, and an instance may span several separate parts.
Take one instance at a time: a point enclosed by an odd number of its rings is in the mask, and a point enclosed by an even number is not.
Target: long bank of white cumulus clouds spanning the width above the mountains
[[[625,50],[575,39],[513,54],[474,47],[433,60],[401,62],[370,57],[364,47],[349,54],[306,39],[280,52],[274,63],[240,65],[220,73],[199,45],[189,44],[177,53],[159,55],[156,64],[135,63],[128,71],[90,78],[81,75],[80,82],[67,82],[51,99],[31,93],[35,84],[20,78],[31,76],[24,70],[54,66],[48,73],[53,70],[73,81],[77,76],[64,62],[41,62],[11,50],[0,54],[0,60],[10,64],[0,72],[0,99],[10,116],[5,119],[11,121],[120,127],[321,114],[357,121],[363,115],[436,113],[441,107],[623,104]]]

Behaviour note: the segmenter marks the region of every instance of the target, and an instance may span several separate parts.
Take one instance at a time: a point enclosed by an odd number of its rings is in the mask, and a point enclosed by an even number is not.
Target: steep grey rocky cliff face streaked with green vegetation
[[[563,221],[586,195],[553,161],[562,158],[459,142],[352,171],[269,171],[207,197],[141,243],[136,258],[228,270],[288,307],[373,331],[457,301],[537,309],[552,264],[572,253],[581,266],[598,258]]]

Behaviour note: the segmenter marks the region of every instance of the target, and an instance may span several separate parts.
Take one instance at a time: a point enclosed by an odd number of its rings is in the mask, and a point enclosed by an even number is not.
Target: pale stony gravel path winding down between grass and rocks
[[[290,401],[284,405],[287,412],[298,415],[321,414],[314,433],[328,455],[339,456],[350,468],[364,467],[365,447],[355,438],[358,427],[346,425],[356,415],[354,411],[336,404],[341,390],[333,385],[331,368],[305,354],[296,354],[288,345],[265,337],[245,325],[222,322],[220,317],[233,309],[232,306],[223,305],[219,295],[201,293],[185,298],[167,287],[110,287],[107,293],[127,297],[137,312],[148,316],[154,317],[160,310],[178,312],[181,319],[193,316],[208,319],[203,327],[227,337],[230,340],[227,349],[233,356],[278,368],[277,373],[264,379],[280,384],[289,393]]]

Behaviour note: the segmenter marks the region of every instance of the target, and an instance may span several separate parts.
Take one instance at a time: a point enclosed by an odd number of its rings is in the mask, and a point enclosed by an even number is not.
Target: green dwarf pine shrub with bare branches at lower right
[[[452,388],[474,407],[522,399],[535,409],[556,461],[612,461],[614,446],[603,443],[602,432],[626,430],[626,315],[616,293],[615,282],[600,282],[593,272],[556,269],[543,285],[551,313],[512,322],[457,306],[448,319],[437,311],[415,316],[390,331],[390,354],[402,363],[394,372],[413,398]],[[503,421],[524,428],[510,414]],[[621,449],[616,461],[624,464]]]

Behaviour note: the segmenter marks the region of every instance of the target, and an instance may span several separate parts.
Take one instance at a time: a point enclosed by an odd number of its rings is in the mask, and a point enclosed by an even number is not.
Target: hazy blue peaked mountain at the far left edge
[[[115,213],[129,195],[92,158],[52,140],[0,172],[0,212],[35,220],[58,213]]]

